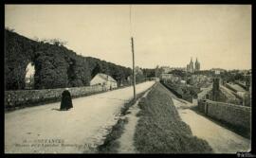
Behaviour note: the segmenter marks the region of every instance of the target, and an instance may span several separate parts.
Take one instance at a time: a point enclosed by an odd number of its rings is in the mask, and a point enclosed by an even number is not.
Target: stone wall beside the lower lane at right
[[[198,101],[198,110],[230,125],[242,127],[246,130],[250,129],[250,107],[205,99]]]

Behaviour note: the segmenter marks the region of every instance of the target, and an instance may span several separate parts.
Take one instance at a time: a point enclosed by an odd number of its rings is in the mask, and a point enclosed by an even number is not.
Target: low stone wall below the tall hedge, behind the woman
[[[45,90],[5,91],[5,109],[12,110],[48,101],[61,100],[64,88]],[[104,91],[101,85],[72,87],[68,90],[72,97],[82,97]]]

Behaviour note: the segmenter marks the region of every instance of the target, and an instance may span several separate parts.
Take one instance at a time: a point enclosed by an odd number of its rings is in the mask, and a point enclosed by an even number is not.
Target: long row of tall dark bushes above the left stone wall
[[[6,90],[25,88],[27,64],[35,63],[35,88],[64,88],[89,85],[92,71],[99,64],[100,70],[120,82],[132,74],[130,68],[82,57],[59,44],[35,42],[13,31],[5,31],[5,81]]]

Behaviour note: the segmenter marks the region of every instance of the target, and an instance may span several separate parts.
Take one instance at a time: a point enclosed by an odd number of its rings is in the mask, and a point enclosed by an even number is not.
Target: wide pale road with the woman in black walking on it
[[[154,83],[137,84],[137,94]],[[60,102],[57,102],[5,114],[5,152],[93,152],[116,124],[120,108],[132,98],[133,88],[126,87],[75,98],[70,111],[59,111]]]

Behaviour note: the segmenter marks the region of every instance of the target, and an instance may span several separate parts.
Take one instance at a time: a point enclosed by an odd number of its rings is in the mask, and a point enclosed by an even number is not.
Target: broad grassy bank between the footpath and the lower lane
[[[141,109],[135,147],[141,153],[210,153],[210,145],[192,135],[179,117],[170,92],[160,83],[138,103]]]

